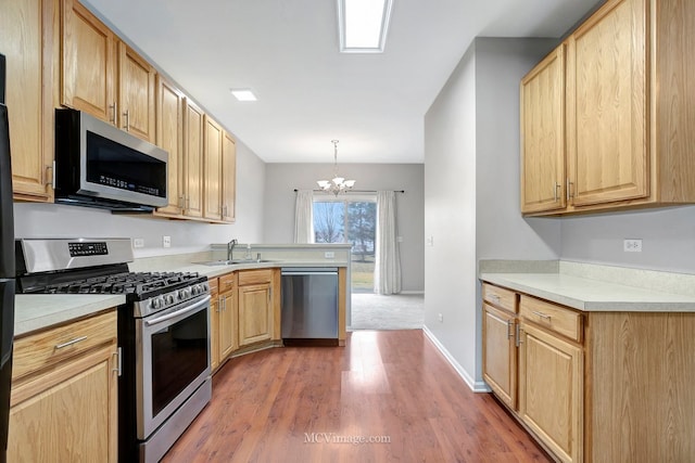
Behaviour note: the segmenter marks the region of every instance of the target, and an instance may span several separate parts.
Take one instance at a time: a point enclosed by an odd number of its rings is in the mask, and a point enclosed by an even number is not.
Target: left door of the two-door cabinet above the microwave
[[[61,18],[61,103],[116,124],[113,33],[76,0],[62,0]]]

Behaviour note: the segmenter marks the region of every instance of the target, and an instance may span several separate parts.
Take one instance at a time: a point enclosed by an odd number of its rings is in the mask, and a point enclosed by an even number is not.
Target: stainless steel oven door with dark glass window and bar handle
[[[210,295],[136,319],[138,439],[146,440],[203,384],[210,369]]]

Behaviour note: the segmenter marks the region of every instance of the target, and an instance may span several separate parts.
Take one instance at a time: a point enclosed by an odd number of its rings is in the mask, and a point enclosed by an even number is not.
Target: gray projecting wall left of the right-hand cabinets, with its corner
[[[476,39],[425,116],[425,324],[475,388],[477,261],[560,252],[558,221],[519,213],[519,80],[555,43]]]

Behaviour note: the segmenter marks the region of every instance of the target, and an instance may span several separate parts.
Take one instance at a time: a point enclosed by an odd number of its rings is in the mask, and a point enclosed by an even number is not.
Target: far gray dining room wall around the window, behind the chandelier
[[[340,162],[340,159],[339,159]],[[424,166],[421,164],[339,164],[340,175],[356,180],[355,190],[405,190],[396,194],[397,234],[403,291],[422,291]],[[316,188],[316,180],[332,176],[331,164],[267,164],[265,243],[294,241],[294,189]]]

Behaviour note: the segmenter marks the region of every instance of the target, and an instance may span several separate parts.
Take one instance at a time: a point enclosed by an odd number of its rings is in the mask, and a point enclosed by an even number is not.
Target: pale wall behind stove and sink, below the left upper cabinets
[[[56,204],[15,203],[16,237],[142,237],[146,247],[136,257],[204,249],[231,237],[257,243],[263,239],[265,164],[237,142],[237,221],[208,224],[188,220],[152,219],[113,215],[105,210]],[[162,235],[172,236],[172,248],[162,247]]]

